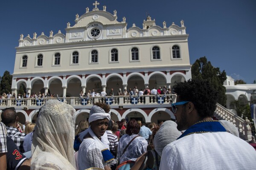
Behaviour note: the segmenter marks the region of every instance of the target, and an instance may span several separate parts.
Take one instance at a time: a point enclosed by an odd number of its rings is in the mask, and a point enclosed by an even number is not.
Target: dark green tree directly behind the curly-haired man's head
[[[218,91],[218,103],[223,106],[226,105],[226,88],[223,86],[224,81],[227,79],[225,71],[221,72],[220,68],[213,67],[206,57],[197,59],[192,65],[191,71],[192,79],[208,80],[215,90]]]

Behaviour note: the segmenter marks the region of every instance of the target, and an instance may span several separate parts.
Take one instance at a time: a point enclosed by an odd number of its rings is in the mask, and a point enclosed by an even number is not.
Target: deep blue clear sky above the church
[[[0,76],[13,73],[15,47],[20,34],[24,37],[61,30],[74,25],[76,14],[93,8],[94,0],[12,0],[0,3]],[[233,79],[247,83],[256,80],[256,0],[98,0],[100,10],[107,6],[117,20],[126,17],[142,28],[146,11],[158,26],[184,20],[189,34],[190,63],[206,56],[208,61]]]

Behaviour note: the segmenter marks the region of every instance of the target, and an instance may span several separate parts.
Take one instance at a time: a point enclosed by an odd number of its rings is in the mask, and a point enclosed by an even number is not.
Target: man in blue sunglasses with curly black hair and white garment
[[[204,80],[189,80],[174,86],[172,103],[177,129],[186,130],[168,144],[160,170],[249,170],[256,162],[250,144],[228,133],[212,120],[218,92]]]

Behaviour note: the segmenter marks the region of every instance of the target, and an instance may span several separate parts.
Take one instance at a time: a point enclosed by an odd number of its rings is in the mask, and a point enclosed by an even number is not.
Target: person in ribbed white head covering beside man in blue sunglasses
[[[175,122],[171,120],[163,122],[154,136],[154,150],[150,150],[138,158],[131,170],[159,170],[163,148],[175,141],[180,135],[181,132],[177,130]]]

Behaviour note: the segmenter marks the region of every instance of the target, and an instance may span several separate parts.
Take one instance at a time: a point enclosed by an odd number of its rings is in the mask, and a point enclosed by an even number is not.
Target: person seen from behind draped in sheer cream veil
[[[75,109],[48,100],[38,116],[32,141],[32,170],[75,170]]]

